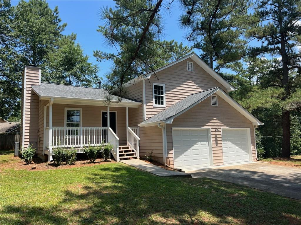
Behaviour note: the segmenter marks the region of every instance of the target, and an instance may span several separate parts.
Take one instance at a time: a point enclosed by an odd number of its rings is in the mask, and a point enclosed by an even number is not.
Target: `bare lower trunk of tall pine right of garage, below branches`
[[[290,158],[290,111],[282,109],[282,152],[281,156]]]

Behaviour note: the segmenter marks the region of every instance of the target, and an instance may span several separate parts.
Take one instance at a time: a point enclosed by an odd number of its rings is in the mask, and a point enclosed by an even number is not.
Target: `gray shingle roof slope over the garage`
[[[167,109],[161,111],[160,113],[158,113],[158,114],[152,116],[151,118],[147,119],[146,121],[142,122],[140,125],[165,121],[165,120],[169,119],[170,117],[175,116],[176,114],[182,112],[189,106],[193,105],[200,99],[204,98],[206,95],[210,95],[211,93],[216,91],[216,89],[218,89],[218,88],[219,87],[211,88],[206,91],[201,91],[201,92],[189,95],[186,98],[183,98],[181,101],[177,102],[176,104],[168,107]]]

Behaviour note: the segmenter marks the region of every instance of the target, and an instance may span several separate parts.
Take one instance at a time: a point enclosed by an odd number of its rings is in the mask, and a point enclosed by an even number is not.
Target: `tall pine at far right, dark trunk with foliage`
[[[281,55],[281,61],[274,60],[268,76],[262,76],[261,86],[277,92],[274,98],[281,109],[282,157],[290,157],[290,113],[301,109],[301,52],[296,49],[301,35],[300,6],[300,1],[260,1],[255,9],[260,23],[248,31],[249,37],[262,42],[260,47],[250,49],[250,55]],[[262,91],[259,95],[266,94],[265,89]]]

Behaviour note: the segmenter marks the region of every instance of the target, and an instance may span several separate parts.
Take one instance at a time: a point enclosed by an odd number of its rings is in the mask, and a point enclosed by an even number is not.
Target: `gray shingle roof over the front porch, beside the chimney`
[[[31,86],[36,93],[40,96],[45,97],[57,97],[57,98],[82,98],[90,100],[107,100],[109,92],[105,89],[99,88],[87,88],[71,85],[62,85],[62,84],[51,84],[41,82],[41,85],[32,85]],[[111,101],[118,102],[119,99],[116,95],[110,95]],[[139,102],[132,99],[122,98],[122,102]]]

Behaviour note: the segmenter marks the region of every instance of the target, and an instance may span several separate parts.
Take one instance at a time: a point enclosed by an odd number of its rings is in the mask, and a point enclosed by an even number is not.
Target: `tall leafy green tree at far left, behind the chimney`
[[[19,118],[24,65],[41,65],[66,24],[46,1],[1,0],[1,116]]]

